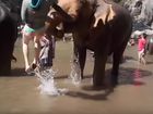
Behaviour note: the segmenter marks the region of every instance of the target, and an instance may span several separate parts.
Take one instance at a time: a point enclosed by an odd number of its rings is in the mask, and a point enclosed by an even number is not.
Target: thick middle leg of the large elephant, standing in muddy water
[[[94,87],[106,86],[105,84],[105,65],[107,54],[95,53],[94,73],[93,73],[93,85]]]

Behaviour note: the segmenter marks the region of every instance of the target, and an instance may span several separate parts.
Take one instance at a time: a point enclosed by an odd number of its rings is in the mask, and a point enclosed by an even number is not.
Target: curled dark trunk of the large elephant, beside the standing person
[[[47,23],[49,23],[49,27],[47,29],[48,34],[51,34],[58,38],[63,37],[63,23],[73,23],[75,21],[75,16],[69,15],[63,9],[59,7],[59,4],[54,4],[52,9],[49,11],[47,16]]]

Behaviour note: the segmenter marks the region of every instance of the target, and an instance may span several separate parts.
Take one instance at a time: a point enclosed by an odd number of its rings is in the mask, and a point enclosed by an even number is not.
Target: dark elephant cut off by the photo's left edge
[[[0,76],[11,74],[11,60],[17,35],[17,23],[12,17],[9,8],[0,2]]]

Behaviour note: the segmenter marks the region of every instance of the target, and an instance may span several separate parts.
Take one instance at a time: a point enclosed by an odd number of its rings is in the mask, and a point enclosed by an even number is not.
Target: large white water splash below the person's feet
[[[35,74],[40,81],[38,89],[40,90],[42,94],[49,94],[49,96],[61,96],[68,92],[68,89],[58,89],[56,83],[54,80],[54,76],[57,72],[50,69],[43,69],[39,68],[35,69]]]

